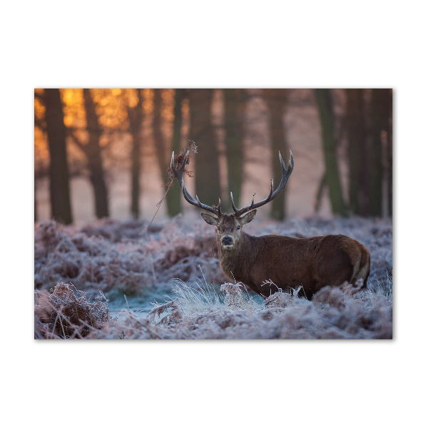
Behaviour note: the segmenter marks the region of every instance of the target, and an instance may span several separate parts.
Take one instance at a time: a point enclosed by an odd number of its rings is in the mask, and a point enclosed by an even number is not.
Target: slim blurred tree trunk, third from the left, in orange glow
[[[133,218],[140,217],[140,175],[141,175],[141,126],[143,124],[143,97],[138,91],[138,103],[128,108],[129,130],[132,135],[131,149],[131,214]]]

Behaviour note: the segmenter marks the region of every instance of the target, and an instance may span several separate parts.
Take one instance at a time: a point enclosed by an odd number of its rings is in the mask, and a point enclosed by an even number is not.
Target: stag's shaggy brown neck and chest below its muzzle
[[[258,255],[258,238],[243,233],[235,248],[225,250],[218,243],[220,267],[230,280],[241,281],[245,284]]]

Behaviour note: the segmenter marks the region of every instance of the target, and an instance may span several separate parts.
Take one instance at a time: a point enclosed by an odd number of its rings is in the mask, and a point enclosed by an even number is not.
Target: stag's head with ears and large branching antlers
[[[200,214],[202,215],[206,223],[208,223],[209,225],[215,226],[217,230],[217,235],[218,235],[218,242],[220,243],[221,248],[223,248],[224,250],[233,250],[234,248],[236,248],[236,246],[239,243],[240,237],[243,234],[243,226],[246,225],[247,223],[250,223],[250,221],[253,220],[253,218],[255,217],[255,213],[256,213],[255,208],[259,208],[262,205],[267,204],[268,202],[273,200],[273,198],[275,198],[283,188],[285,188],[285,184],[287,183],[287,180],[292,173],[292,169],[294,168],[294,160],[292,158],[291,151],[290,151],[291,158],[290,158],[290,162],[288,163],[289,165],[288,169],[285,168],[285,163],[282,160],[282,156],[280,153],[282,178],[281,178],[280,185],[278,185],[275,192],[273,191],[273,178],[272,178],[272,180],[270,180],[270,193],[267,196],[267,198],[260,200],[260,202],[258,203],[254,203],[254,197],[255,197],[255,194],[254,194],[253,201],[251,202],[251,204],[243,208],[240,208],[240,210],[238,210],[238,208],[235,207],[235,203],[233,203],[233,195],[232,195],[232,192],[230,192],[230,198],[232,200],[232,208],[235,211],[235,213],[223,214],[221,211],[220,198],[218,199],[217,206],[213,205],[210,207],[209,205],[205,205],[204,203],[201,203],[198,198],[198,195],[196,195],[196,199],[193,198],[193,196],[191,196],[190,193],[188,193],[188,190],[185,188],[184,180],[183,180],[183,171],[187,163],[188,154],[189,154],[189,151],[185,154],[183,163],[181,163],[180,167],[176,169],[174,166],[174,152],[173,152],[173,157],[171,158],[171,164],[170,164],[171,170],[173,171],[175,178],[177,178],[178,180],[178,185],[180,185],[180,189],[183,192],[185,200],[187,200],[188,203],[195,205],[196,207],[203,208],[204,210],[207,210],[210,213],[215,215],[213,216],[206,213]]]

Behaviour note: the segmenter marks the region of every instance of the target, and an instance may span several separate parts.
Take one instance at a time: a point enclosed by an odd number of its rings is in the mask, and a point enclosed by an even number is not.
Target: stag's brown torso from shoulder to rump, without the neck
[[[277,291],[276,287],[263,286],[266,280],[284,290],[302,285],[310,297],[325,285],[351,282],[360,269],[361,261],[367,263],[367,255],[370,268],[370,254],[364,245],[344,235],[313,238],[266,235],[252,238],[258,255],[242,281],[265,296]]]

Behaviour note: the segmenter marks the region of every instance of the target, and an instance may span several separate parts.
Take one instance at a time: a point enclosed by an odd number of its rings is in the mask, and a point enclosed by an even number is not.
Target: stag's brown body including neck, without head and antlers
[[[225,223],[233,223],[233,215],[230,217]],[[233,230],[228,233],[233,236]],[[243,282],[264,297],[278,288],[287,291],[299,285],[308,299],[325,285],[355,284],[360,278],[367,285],[370,253],[344,235],[289,238],[242,233],[235,242],[231,249],[218,243],[221,269],[231,280]]]

